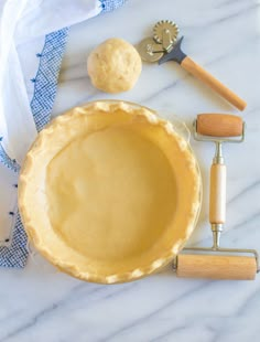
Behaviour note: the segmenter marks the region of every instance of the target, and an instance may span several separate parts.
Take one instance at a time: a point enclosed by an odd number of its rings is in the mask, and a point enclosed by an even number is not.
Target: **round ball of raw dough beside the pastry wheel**
[[[131,44],[113,38],[90,53],[87,70],[95,87],[106,93],[121,93],[134,86],[142,62]]]

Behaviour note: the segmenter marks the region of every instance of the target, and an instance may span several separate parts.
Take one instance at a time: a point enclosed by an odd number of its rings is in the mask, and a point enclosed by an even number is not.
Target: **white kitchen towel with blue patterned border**
[[[18,175],[26,150],[50,120],[68,28],[123,2],[0,0],[0,266],[26,263]]]

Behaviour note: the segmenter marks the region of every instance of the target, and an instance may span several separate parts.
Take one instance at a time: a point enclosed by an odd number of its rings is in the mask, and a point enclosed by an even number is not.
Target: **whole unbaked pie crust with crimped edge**
[[[199,203],[186,141],[150,110],[120,101],[56,118],[20,174],[30,241],[63,271],[102,284],[167,264],[193,232]]]

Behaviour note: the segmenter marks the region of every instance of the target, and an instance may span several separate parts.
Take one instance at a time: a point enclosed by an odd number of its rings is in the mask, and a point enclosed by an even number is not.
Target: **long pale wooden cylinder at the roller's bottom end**
[[[177,277],[253,280],[257,272],[254,257],[180,254]]]

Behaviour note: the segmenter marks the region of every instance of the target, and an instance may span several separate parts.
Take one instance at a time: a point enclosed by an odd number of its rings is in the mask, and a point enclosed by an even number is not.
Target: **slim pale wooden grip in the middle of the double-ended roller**
[[[226,165],[213,164],[210,169],[209,222],[225,223],[226,220]]]

